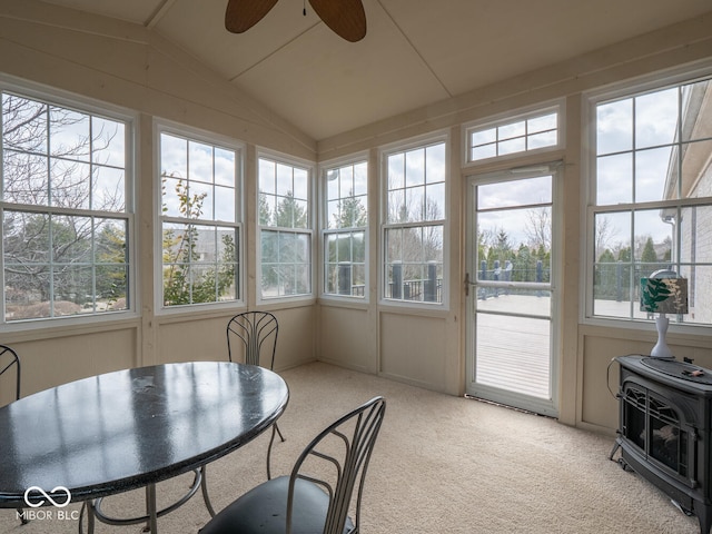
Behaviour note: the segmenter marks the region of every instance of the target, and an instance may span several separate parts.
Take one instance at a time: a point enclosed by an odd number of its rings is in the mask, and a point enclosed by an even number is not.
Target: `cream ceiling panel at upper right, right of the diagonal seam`
[[[692,18],[710,0],[383,0],[453,95]]]

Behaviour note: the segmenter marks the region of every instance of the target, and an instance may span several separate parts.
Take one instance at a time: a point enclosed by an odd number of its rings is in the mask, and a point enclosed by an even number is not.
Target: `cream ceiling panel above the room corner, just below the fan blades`
[[[318,24],[235,81],[315,139],[448,96],[384,17],[356,43]]]

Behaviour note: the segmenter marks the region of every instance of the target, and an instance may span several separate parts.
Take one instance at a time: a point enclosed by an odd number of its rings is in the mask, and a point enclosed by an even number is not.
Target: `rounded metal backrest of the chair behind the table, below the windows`
[[[277,318],[268,312],[236,315],[227,324],[227,353],[230,362],[233,357],[238,357],[234,353],[241,345],[246,364],[267,367],[263,362],[268,360],[269,368],[274,368],[278,333]]]

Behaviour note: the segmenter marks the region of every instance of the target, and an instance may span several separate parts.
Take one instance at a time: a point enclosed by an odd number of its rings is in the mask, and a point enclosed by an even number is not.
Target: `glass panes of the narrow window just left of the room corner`
[[[309,170],[259,158],[260,296],[312,295]]]

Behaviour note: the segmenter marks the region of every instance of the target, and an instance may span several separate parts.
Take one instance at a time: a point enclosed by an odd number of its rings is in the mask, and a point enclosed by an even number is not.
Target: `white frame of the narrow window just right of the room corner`
[[[333,169],[340,169],[343,167],[356,166],[356,165],[365,165],[366,166],[366,194],[364,195],[366,200],[366,226],[353,226],[353,227],[344,227],[344,228],[329,228],[329,210],[328,210],[328,180],[327,174]],[[370,221],[373,220],[370,210],[369,210],[369,187],[370,187],[370,161],[368,158],[368,154],[354,154],[349,155],[345,158],[333,159],[329,161],[320,162],[318,166],[318,176],[319,176],[319,192],[320,192],[320,220],[319,220],[319,253],[322,255],[322,260],[319,261],[320,273],[319,273],[319,297],[325,299],[334,299],[340,300],[344,303],[353,303],[353,304],[367,304],[370,299],[369,297],[369,287],[370,287],[370,239],[369,239],[369,229]],[[343,201],[344,198],[348,197],[339,197],[339,201]],[[363,231],[364,234],[364,295],[340,295],[338,293],[329,293],[327,291],[326,278],[328,274],[328,246],[327,238],[330,235],[339,235],[339,234],[349,234],[354,231]]]

